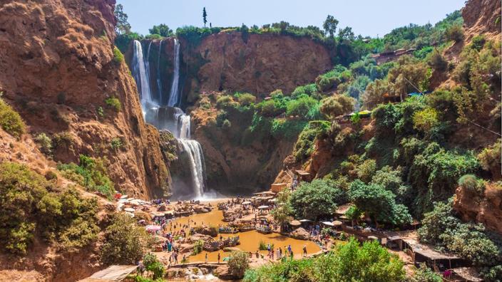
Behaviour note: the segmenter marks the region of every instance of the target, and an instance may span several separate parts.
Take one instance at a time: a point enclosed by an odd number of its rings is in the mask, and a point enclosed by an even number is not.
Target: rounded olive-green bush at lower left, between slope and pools
[[[136,264],[152,244],[152,236],[127,214],[113,214],[105,229],[101,261],[110,264]]]

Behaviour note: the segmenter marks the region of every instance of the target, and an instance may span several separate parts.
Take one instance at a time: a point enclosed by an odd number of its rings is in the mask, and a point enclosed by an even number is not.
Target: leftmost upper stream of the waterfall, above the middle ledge
[[[136,80],[136,85],[138,86],[143,111],[155,107],[156,104],[153,103],[152,93],[150,91],[150,70],[148,68],[148,62],[145,61],[143,57],[143,48],[141,48],[140,41],[137,40],[134,41],[132,73]]]

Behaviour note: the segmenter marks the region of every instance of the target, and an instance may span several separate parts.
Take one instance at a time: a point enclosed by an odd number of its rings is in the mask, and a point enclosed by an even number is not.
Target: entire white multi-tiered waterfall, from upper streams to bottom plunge
[[[178,140],[182,153],[188,156],[190,174],[192,176],[193,196],[195,198],[204,197],[205,192],[205,162],[203,148],[199,142],[190,139],[190,115],[186,115],[183,110],[176,108],[181,101],[179,83],[180,83],[180,43],[174,39],[174,74],[173,84],[171,85],[167,107],[159,106],[152,99],[150,88],[150,65],[148,58],[152,41],[148,45],[146,57],[143,55],[143,49],[139,41],[134,41],[133,53],[133,77],[136,80],[140,91],[141,106],[145,115],[145,120],[159,130],[169,130],[173,132]],[[160,78],[160,52],[162,41],[159,43],[159,55],[157,62],[157,84],[159,90],[159,100],[162,102],[161,78]]]

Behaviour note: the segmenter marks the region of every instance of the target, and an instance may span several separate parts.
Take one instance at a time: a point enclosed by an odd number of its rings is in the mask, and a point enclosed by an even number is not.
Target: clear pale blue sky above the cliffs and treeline
[[[436,23],[461,9],[464,0],[118,0],[129,16],[133,31],[148,34],[148,28],[165,23],[203,26],[202,11],[208,11],[212,26],[247,26],[288,21],[296,26],[319,26],[327,14],[339,27],[351,26],[356,34],[383,36],[409,23]],[[209,25],[209,24],[208,24]]]

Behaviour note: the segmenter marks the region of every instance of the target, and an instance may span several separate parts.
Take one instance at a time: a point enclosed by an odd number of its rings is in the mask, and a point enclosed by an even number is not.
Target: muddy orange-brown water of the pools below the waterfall
[[[177,225],[176,229],[174,229],[174,224]],[[181,229],[180,226],[183,226],[184,224],[189,224],[192,227],[200,225],[225,226],[227,225],[227,222],[223,221],[223,211],[220,211],[217,208],[215,208],[206,214],[194,214],[192,216],[185,216],[175,219],[173,221],[173,231],[180,230]],[[260,246],[260,241],[265,242],[265,244],[271,244],[271,245],[273,244],[275,250],[281,247],[283,255],[285,249],[287,249],[287,246],[291,245],[291,249],[293,251],[295,258],[302,257],[303,246],[307,246],[307,254],[315,254],[321,251],[321,248],[312,241],[292,239],[290,237],[282,236],[276,233],[261,234],[253,230],[253,231],[240,232],[236,234],[218,234],[217,239],[220,239],[220,236],[222,236],[223,239],[226,239],[227,237],[239,236],[240,245],[237,245],[236,247],[242,251],[251,252],[253,257],[255,257],[255,252],[259,251],[258,246]],[[267,251],[259,251],[259,252],[260,254],[263,254],[263,256],[267,257],[268,253]],[[212,251],[212,252],[203,251],[195,256],[188,256],[187,259],[189,262],[205,261],[205,254],[208,254],[208,262],[216,262],[218,253],[220,254],[221,260],[226,256],[230,255],[230,253],[224,251]]]

